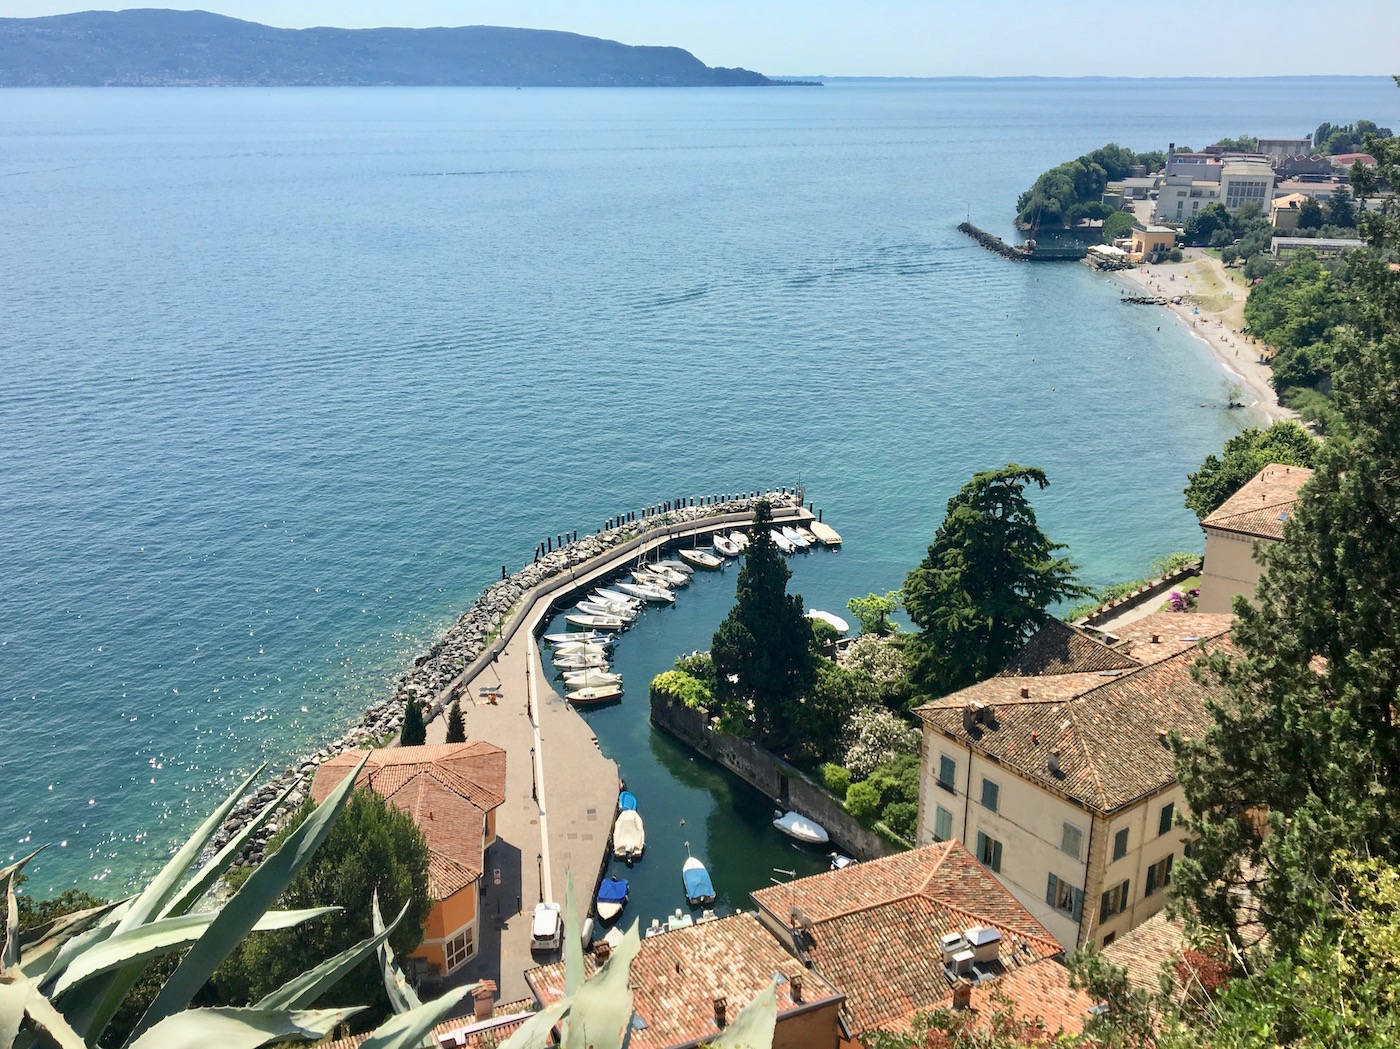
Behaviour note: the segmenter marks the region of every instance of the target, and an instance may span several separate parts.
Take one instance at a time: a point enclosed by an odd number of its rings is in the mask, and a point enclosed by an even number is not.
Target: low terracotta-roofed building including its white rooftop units
[[[1077,1034],[1093,1001],[1070,987],[1063,948],[958,842],[753,894],[759,920],[846,994],[844,1043],[907,1034],[917,1013],[988,1010]],[[665,937],[662,937],[665,938]]]

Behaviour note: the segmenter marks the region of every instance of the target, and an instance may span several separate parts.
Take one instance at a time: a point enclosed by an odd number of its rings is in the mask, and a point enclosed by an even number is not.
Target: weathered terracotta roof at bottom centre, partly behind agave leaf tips
[[[585,955],[585,976],[596,969],[598,959]],[[801,1003],[792,1001],[792,985],[787,982],[797,972],[804,983]],[[714,1038],[720,1032],[714,1022],[714,992],[725,996],[734,1017],[776,973],[784,978],[778,983],[778,1024],[784,1013],[820,1001],[839,1004],[843,999],[820,975],[804,971],[753,915],[731,915],[648,937],[631,962],[630,979],[633,1011],[645,1027],[633,1028],[629,1045],[665,1049]],[[547,1006],[564,994],[564,964],[531,969],[525,980],[540,1004]]]

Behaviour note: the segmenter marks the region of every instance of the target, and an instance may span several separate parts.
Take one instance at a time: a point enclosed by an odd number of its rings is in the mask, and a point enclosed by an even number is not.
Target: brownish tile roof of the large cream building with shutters
[[[916,713],[935,731],[994,756],[1023,779],[1113,812],[1176,781],[1172,751],[1159,732],[1177,728],[1198,737],[1211,724],[1205,702],[1214,692],[1191,678],[1191,667],[1201,647],[1229,647],[1222,630],[1228,616],[1169,615],[1183,627],[1194,625],[1186,627],[1191,634],[1179,639],[1194,634],[1201,640],[1180,640],[1189,647],[1120,676],[993,678],[1012,688],[1019,681],[1030,695],[1018,692],[997,702],[986,688],[991,682],[981,682]],[[1221,633],[1196,634],[1207,626]],[[967,703],[974,702],[987,703],[977,720],[967,714]],[[1058,755],[1054,772],[1051,755]]]

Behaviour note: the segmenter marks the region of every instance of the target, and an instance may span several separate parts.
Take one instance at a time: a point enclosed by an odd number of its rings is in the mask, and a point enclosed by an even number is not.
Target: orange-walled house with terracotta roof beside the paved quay
[[[496,808],[505,801],[505,751],[480,739],[342,751],[316,770],[316,804],[365,753],[356,789],[368,787],[407,812],[427,839],[434,905],[413,958],[430,975],[447,976],[476,957],[486,850],[496,840]]]

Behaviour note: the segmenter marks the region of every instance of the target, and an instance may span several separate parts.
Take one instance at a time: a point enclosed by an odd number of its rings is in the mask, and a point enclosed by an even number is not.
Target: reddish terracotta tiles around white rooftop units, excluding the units
[[[753,899],[781,924],[797,908],[806,955],[846,992],[848,1022],[857,1032],[896,1029],[914,1013],[952,1000],[942,964],[946,933],[995,929],[1008,973],[1063,951],[958,842],[759,889]]]

